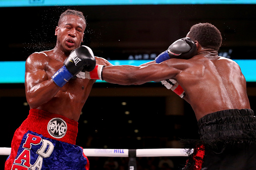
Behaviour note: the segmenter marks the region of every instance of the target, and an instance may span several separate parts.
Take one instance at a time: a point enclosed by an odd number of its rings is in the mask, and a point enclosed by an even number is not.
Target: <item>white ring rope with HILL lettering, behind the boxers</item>
[[[185,149],[135,149],[136,157],[188,156]],[[84,149],[88,157],[128,157],[129,149]],[[0,147],[0,155],[10,155],[11,148]]]

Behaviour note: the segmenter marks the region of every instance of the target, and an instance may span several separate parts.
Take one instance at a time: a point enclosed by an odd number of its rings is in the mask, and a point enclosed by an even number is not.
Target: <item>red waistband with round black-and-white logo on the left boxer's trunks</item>
[[[42,134],[44,137],[73,145],[75,145],[78,133],[77,121],[39,109],[30,109],[28,118],[23,121],[20,127],[27,128],[29,131],[37,134]],[[55,132],[55,134],[52,132]],[[56,132],[59,133],[56,135]]]

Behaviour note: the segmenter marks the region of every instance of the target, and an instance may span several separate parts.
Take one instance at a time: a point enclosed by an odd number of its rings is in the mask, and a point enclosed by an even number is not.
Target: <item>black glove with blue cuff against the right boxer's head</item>
[[[191,38],[181,38],[155,58],[156,63],[161,63],[170,58],[190,59],[197,55],[197,46]]]

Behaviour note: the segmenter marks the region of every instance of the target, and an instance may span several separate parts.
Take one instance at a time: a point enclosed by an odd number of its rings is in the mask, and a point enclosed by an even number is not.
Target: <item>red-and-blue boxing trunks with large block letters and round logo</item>
[[[31,109],[14,133],[5,170],[89,170],[77,133],[77,121]]]

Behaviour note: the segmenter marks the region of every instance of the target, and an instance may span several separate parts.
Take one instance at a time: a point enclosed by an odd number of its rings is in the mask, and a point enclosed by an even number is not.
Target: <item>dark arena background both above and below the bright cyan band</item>
[[[134,5],[0,8],[0,61],[25,61],[33,52],[53,49],[55,27],[66,9],[84,13],[87,27],[82,45],[108,60],[153,59],[150,56],[165,51],[199,22],[210,22],[222,32],[220,55],[255,59],[256,5]],[[255,110],[255,83],[247,86]],[[14,131],[28,115],[24,84],[0,84],[0,103],[0,147],[10,147]],[[190,105],[153,82],[96,83],[78,123],[77,145],[84,149],[179,148],[176,140],[199,137]],[[1,167],[6,158],[0,156]],[[185,158],[171,159],[175,168],[185,162]]]

